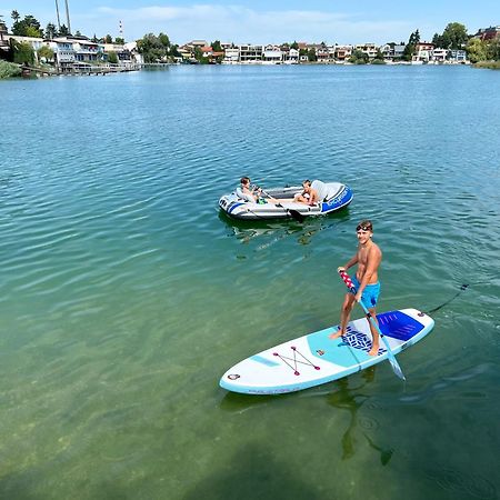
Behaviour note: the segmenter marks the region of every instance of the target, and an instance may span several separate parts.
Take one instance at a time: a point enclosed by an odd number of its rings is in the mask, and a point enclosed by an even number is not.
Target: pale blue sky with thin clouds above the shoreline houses
[[[173,43],[192,39],[234,43],[383,43],[408,41],[416,29],[422,40],[441,33],[449,22],[461,22],[469,33],[500,24],[500,0],[68,0],[72,31],[88,37],[119,36],[127,41],[144,33],[167,33]],[[1,0],[0,14],[34,16],[44,28],[57,23],[56,0]],[[59,0],[66,23],[64,0]]]

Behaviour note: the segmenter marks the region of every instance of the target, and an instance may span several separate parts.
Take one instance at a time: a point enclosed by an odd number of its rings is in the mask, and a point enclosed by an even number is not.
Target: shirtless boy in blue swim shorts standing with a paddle
[[[376,306],[380,294],[380,282],[378,276],[378,269],[382,261],[382,252],[378,244],[372,241],[373,226],[371,221],[363,220],[356,228],[358,236],[358,251],[354,257],[346,266],[338,268],[338,271],[347,271],[352,266],[358,264],[356,277],[352,277],[352,282],[357,289],[356,297],[348,292],[343,300],[342,310],[340,312],[340,327],[339,330],[330,334],[330,339],[337,339],[346,333],[346,328],[349,323],[349,317],[354,304],[363,301],[373,320],[377,321]],[[377,356],[379,352],[379,332],[370,324],[371,337],[373,339],[369,354]]]

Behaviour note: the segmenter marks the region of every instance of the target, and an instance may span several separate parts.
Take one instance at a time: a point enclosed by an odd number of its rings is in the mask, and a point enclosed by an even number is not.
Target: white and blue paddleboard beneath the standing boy
[[[379,327],[393,354],[423,339],[434,320],[417,309],[377,314]],[[338,327],[316,331],[240,361],[220,379],[220,387],[247,394],[281,394],[300,391],[347,377],[387,360],[380,341],[369,356],[371,332],[367,318],[351,321],[346,334],[330,339]]]

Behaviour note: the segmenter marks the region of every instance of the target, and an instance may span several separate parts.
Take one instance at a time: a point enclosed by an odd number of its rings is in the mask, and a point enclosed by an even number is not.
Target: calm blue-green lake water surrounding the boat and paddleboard
[[[193,68],[0,82],[0,498],[498,499],[500,72]],[[220,194],[339,180],[231,223]],[[374,222],[388,363],[282,397],[237,361],[338,322]],[[357,312],[358,317],[360,312]]]

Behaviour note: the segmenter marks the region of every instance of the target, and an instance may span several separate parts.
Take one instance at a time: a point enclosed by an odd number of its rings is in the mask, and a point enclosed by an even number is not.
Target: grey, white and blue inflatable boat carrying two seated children
[[[301,186],[272,188],[263,191],[260,202],[241,198],[239,190],[223,194],[219,208],[234,219],[297,219],[327,213],[347,207],[353,198],[351,189],[340,182],[312,181],[312,189],[318,192],[319,202],[309,206],[293,201],[293,197],[302,192]],[[272,201],[274,199],[276,201]]]

